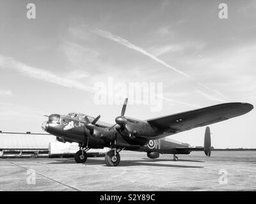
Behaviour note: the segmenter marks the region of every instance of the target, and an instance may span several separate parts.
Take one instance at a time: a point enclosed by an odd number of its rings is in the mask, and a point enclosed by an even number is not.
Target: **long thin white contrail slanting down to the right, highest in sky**
[[[166,68],[173,69],[173,71],[176,71],[180,75],[183,75],[184,77],[187,77],[191,80],[196,81],[194,77],[191,77],[188,74],[184,73],[183,71],[180,71],[179,69],[174,68],[173,66],[170,66],[170,64],[167,64],[166,62],[162,61],[161,59],[159,59],[155,55],[150,54],[149,52],[147,52],[143,48],[130,43],[128,40],[125,40],[124,38],[121,38],[120,36],[116,36],[116,35],[110,33],[109,31],[103,31],[101,29],[94,29],[93,32],[95,34],[99,35],[99,36],[102,36],[103,38],[107,38],[108,40],[116,41],[117,43],[120,43],[120,44],[124,45],[125,47],[131,48],[132,50],[136,50],[137,52],[140,52],[143,55],[147,55],[148,57],[150,57],[154,61],[159,62],[160,64],[163,64],[163,66],[165,66]],[[207,90],[214,91],[216,94],[220,95],[222,98],[225,98],[225,96],[220,91],[217,91],[215,89],[211,89],[207,85],[204,85],[200,82],[197,82],[196,84],[204,87]]]

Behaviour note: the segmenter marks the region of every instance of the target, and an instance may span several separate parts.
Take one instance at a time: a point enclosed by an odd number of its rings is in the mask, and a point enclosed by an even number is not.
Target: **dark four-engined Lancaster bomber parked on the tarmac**
[[[100,115],[91,117],[83,113],[52,114],[46,115],[48,120],[42,124],[42,129],[56,136],[60,142],[79,143],[80,150],[74,157],[77,163],[86,162],[86,152],[89,149],[104,147],[111,149],[105,156],[107,166],[117,166],[120,163],[119,152],[122,150],[147,152],[150,159],[158,158],[159,154],[173,154],[173,160],[177,161],[177,154],[189,154],[191,151],[204,151],[206,156],[211,156],[210,128],[205,129],[204,147],[191,147],[187,143],[170,141],[164,137],[231,119],[253,109],[250,103],[223,103],[154,119],[138,120],[124,116],[127,100],[126,98],[115,124],[100,122]]]

